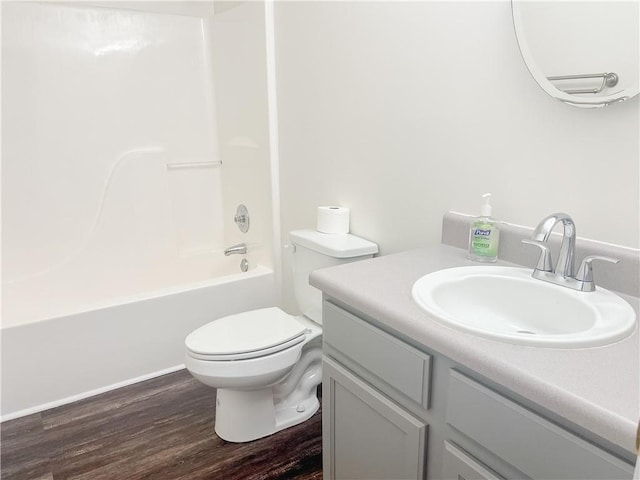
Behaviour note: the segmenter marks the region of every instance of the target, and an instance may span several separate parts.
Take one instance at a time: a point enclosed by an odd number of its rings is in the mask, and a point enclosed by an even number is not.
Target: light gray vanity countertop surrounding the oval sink
[[[427,273],[464,265],[478,263],[468,260],[464,250],[441,244],[316,270],[310,283],[390,330],[635,453],[640,417],[638,328],[617,343],[583,349],[511,345],[463,333],[418,308],[411,287]],[[638,299],[622,296],[637,313]]]

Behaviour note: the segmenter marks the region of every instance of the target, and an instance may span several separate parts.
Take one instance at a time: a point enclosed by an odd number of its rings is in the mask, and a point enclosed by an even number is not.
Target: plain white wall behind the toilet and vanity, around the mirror
[[[501,220],[565,211],[579,236],[639,246],[638,98],[548,97],[509,2],[278,2],[275,28],[283,235],[340,204],[353,233],[398,252],[492,192]]]

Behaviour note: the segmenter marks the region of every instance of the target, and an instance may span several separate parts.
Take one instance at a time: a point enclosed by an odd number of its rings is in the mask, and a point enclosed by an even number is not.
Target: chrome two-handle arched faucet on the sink
[[[553,268],[551,250],[549,249],[547,241],[554,227],[560,222],[562,222],[564,231],[558,261],[556,267]],[[591,266],[593,260],[603,260],[611,263],[619,262],[616,258],[590,255],[582,260],[578,273],[575,274],[576,225],[573,223],[573,219],[566,213],[553,213],[542,219],[533,231],[531,240],[525,239],[522,240],[522,243],[535,245],[540,248],[540,258],[531,275],[533,278],[581,292],[593,292],[596,289]]]

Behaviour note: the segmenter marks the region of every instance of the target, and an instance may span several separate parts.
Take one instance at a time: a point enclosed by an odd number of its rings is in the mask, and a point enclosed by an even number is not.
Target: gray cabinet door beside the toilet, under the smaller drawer
[[[332,360],[322,368],[324,478],[422,480],[427,426]]]

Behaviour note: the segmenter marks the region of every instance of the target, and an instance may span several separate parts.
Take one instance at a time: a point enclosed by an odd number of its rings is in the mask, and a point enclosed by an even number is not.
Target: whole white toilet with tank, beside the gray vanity
[[[185,340],[185,366],[218,389],[215,430],[248,442],[297,425],[319,408],[322,294],[309,285],[319,268],[371,258],[375,243],[351,234],[290,232],[293,288],[303,316],[262,308],[214,320]]]

